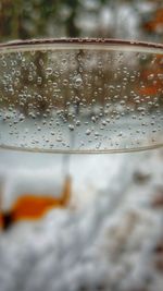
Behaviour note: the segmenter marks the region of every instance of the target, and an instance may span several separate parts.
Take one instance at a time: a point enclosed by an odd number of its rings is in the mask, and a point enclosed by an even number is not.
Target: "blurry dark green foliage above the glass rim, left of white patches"
[[[76,11],[80,3],[76,0],[0,0],[1,39],[58,36],[50,33],[50,26],[59,32],[64,26],[65,36],[78,36],[75,25]]]

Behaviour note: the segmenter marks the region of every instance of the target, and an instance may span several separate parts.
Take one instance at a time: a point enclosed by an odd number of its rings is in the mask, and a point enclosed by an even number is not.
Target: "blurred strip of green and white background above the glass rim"
[[[162,43],[162,0],[0,0],[0,41],[111,37]]]

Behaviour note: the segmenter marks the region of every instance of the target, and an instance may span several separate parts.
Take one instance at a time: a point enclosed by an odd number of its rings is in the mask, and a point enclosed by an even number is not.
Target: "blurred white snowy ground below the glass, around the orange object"
[[[62,157],[0,160],[3,208],[22,190],[60,192]],[[0,233],[0,291],[162,291],[163,150],[73,156],[70,172],[67,209]]]

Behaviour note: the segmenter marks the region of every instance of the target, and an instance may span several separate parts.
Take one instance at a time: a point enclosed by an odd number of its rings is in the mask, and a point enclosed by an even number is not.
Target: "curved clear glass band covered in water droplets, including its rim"
[[[0,146],[112,153],[163,145],[163,46],[32,40],[0,46]]]

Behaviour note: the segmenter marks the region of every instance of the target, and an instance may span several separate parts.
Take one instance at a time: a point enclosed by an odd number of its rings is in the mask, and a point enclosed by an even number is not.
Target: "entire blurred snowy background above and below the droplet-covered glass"
[[[163,1],[0,0],[1,43],[41,37],[162,43]],[[0,291],[163,290],[163,149],[0,150]]]

